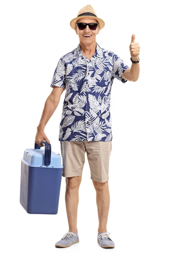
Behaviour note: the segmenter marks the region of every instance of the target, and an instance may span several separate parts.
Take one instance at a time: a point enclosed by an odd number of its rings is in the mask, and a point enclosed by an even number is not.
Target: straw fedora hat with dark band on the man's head
[[[99,22],[100,30],[105,26],[104,20],[98,18],[96,13],[94,12],[93,7],[90,4],[88,4],[87,6],[85,6],[79,10],[76,18],[71,20],[70,26],[72,27],[72,29],[75,29],[77,20],[79,20],[80,18],[85,18],[85,17],[95,18]]]

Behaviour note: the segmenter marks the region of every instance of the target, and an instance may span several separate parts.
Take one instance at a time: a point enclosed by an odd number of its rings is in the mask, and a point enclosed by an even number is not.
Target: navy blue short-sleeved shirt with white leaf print
[[[111,141],[111,86],[122,79],[128,67],[112,51],[96,42],[96,52],[89,60],[80,44],[63,55],[54,71],[51,87],[66,90],[61,122],[60,141]]]

